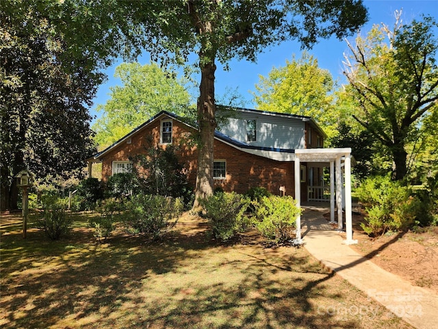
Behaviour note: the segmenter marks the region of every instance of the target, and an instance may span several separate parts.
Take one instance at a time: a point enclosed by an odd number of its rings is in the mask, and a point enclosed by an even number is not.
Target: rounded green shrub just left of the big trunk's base
[[[176,225],[182,209],[180,198],[136,195],[127,202],[125,223],[133,233],[147,234],[156,240]]]

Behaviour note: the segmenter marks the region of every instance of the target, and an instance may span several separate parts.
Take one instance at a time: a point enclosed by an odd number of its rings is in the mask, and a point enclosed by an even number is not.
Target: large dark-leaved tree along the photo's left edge
[[[84,167],[94,152],[87,108],[101,75],[70,46],[42,3],[1,2],[1,210],[16,208],[22,169],[45,178]]]

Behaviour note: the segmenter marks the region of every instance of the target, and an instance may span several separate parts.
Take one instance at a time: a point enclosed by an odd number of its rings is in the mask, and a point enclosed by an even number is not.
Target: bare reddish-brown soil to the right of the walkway
[[[352,249],[414,286],[438,293],[438,227],[372,238],[363,232],[362,222],[362,214],[353,215],[353,239],[358,244],[351,245]]]

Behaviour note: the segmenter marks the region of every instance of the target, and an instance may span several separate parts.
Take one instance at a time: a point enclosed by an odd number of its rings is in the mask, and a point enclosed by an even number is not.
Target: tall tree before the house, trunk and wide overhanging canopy
[[[78,50],[87,49],[96,58],[136,56],[146,49],[164,64],[188,64],[189,55],[196,53],[201,73],[196,201],[213,192],[216,61],[225,66],[232,58],[255,61],[262,49],[288,38],[310,47],[318,38],[342,38],[366,20],[361,0],[73,2],[76,8],[62,25],[64,31],[76,40]],[[62,7],[57,17],[67,16],[68,6]]]

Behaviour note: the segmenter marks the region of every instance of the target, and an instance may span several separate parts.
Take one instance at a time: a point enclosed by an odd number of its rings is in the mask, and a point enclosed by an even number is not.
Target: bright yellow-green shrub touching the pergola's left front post
[[[253,204],[255,226],[262,236],[277,244],[294,239],[296,216],[300,210],[292,197],[265,196]]]

